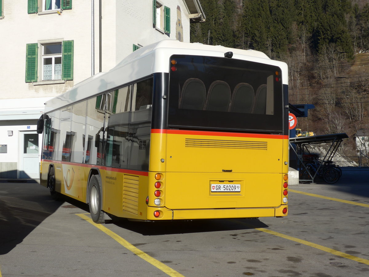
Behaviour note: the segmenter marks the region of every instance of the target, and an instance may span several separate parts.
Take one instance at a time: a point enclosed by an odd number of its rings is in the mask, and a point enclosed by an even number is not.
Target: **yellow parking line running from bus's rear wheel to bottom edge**
[[[180,277],[180,276],[182,276],[182,277],[184,277],[179,272],[177,272],[174,269],[170,268],[169,266],[163,264],[162,262],[154,259],[153,257],[149,256],[145,252],[139,250],[137,247],[133,246],[131,243],[127,242],[127,240],[125,240],[122,237],[118,236],[116,233],[114,233],[113,231],[109,230],[104,225],[94,223],[91,218],[89,218],[88,216],[86,216],[86,214],[89,215],[89,213],[76,213],[77,216],[80,216],[81,218],[85,219],[87,222],[91,223],[96,228],[99,228],[101,231],[103,231],[108,236],[110,236],[113,239],[115,239],[118,243],[120,243],[125,248],[127,248],[128,250],[130,250],[131,252],[133,252],[134,254],[136,254],[138,257],[140,257],[141,259],[144,259],[148,263],[152,264],[153,266],[157,267],[158,269],[160,269],[164,273],[168,274],[169,276],[173,276],[173,277]]]

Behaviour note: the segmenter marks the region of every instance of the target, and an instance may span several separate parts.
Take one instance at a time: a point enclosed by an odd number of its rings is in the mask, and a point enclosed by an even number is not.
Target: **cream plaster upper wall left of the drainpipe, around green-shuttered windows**
[[[27,1],[6,1],[0,23],[1,36],[11,41],[0,46],[1,63],[6,65],[0,67],[0,99],[56,96],[91,75],[91,2],[73,1],[72,10],[61,15],[38,15],[27,13]],[[73,81],[42,86],[25,83],[26,44],[53,39],[74,40]]]

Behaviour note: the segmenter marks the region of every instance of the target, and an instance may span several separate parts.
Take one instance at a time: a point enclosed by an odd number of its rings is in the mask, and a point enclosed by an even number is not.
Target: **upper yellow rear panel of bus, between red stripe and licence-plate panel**
[[[168,134],[166,171],[282,173],[284,140],[268,137]]]

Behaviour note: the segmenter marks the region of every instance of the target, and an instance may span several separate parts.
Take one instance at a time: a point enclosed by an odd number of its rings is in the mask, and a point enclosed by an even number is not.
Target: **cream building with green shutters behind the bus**
[[[46,100],[204,20],[199,0],[0,0],[0,178],[39,177]]]

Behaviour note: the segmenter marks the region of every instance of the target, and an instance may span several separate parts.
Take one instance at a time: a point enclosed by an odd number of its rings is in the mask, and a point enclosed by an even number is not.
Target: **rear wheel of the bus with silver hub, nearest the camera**
[[[102,211],[101,179],[99,175],[92,175],[89,184],[89,207],[93,222],[104,223],[104,212]]]

